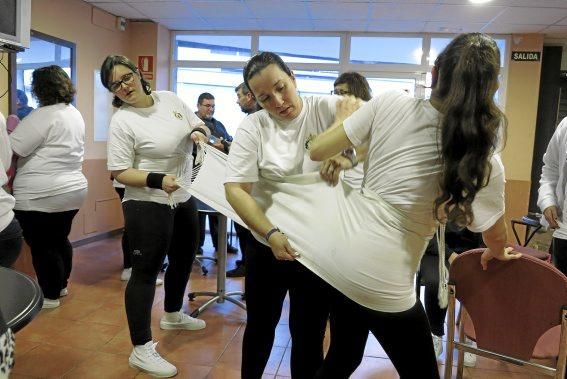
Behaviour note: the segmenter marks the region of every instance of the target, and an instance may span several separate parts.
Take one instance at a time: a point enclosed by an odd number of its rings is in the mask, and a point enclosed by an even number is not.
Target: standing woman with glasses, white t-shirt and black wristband
[[[152,341],[155,283],[167,253],[160,328],[205,327],[203,320],[182,311],[199,229],[195,199],[180,181],[190,180],[193,143],[207,141],[209,131],[177,95],[152,92],[136,65],[124,56],[108,56],[100,78],[118,108],[109,128],[108,169],[126,186],[122,207],[132,274],[125,303],[134,345],[128,361],[151,375],[171,377],[177,368],[156,352],[157,342]]]

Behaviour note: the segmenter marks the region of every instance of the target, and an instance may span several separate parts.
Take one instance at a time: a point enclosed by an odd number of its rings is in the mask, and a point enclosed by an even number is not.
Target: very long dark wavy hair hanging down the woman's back
[[[495,152],[498,130],[506,117],[494,102],[498,89],[500,51],[486,34],[469,33],[455,38],[435,61],[438,78],[432,100],[439,101],[443,115],[440,151],[443,173],[441,195],[435,200],[449,221],[469,225],[474,218],[471,204],[488,184],[490,157]],[[434,78],[435,80],[435,78]]]

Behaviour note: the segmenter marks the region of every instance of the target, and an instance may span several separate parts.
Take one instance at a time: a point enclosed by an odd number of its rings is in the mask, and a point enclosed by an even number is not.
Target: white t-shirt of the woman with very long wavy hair
[[[439,112],[431,103],[402,91],[387,92],[346,119],[344,128],[355,146],[370,140],[364,188],[415,221],[430,222],[442,169]],[[488,229],[504,214],[504,166],[497,155],[491,163],[489,185],[473,202],[474,222],[469,229],[475,232]]]

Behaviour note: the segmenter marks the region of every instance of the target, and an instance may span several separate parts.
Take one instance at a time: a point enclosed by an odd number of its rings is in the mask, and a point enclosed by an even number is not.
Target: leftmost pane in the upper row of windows
[[[175,46],[179,60],[246,62],[250,59],[251,37],[178,34]]]

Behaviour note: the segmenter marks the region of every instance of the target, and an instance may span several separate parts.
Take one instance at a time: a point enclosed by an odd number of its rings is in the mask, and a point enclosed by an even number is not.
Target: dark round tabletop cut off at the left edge
[[[42,305],[43,294],[34,279],[0,267],[0,310],[12,331],[17,332],[26,326]]]

